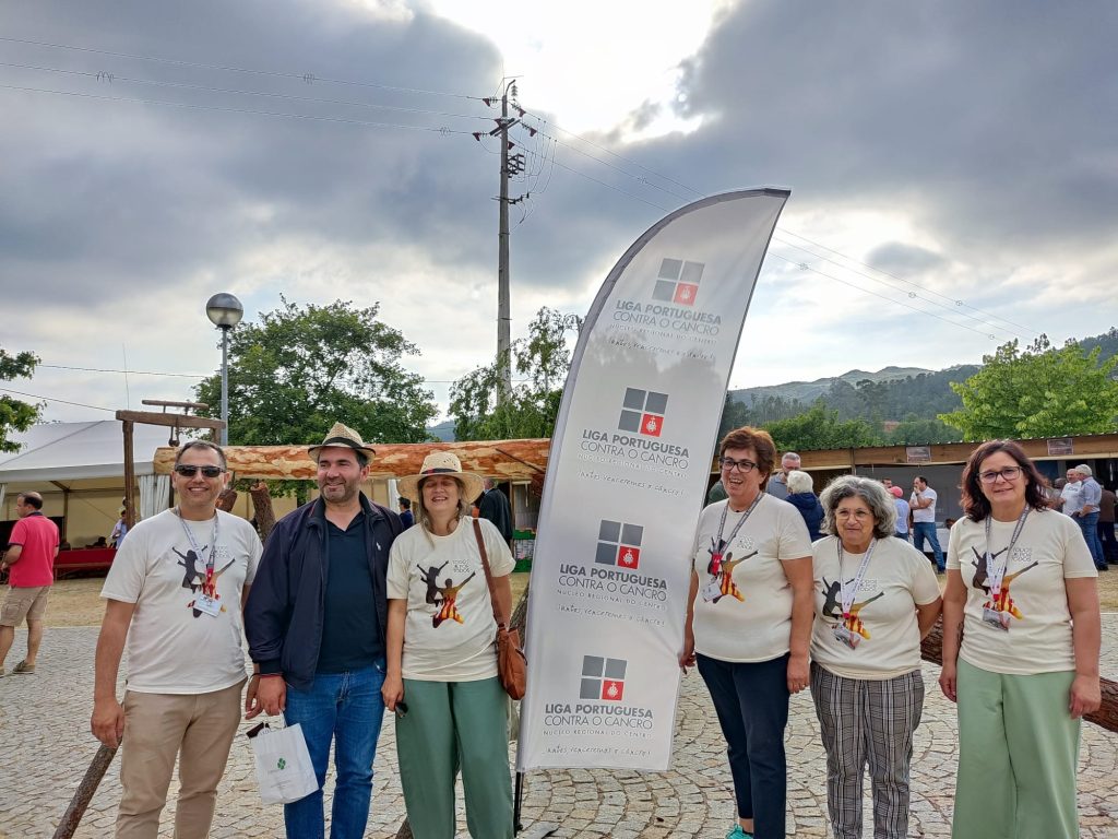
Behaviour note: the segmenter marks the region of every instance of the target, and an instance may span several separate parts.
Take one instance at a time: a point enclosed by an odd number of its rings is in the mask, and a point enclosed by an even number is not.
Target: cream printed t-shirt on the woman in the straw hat
[[[492,521],[479,522],[493,577],[511,574],[517,560],[509,544]],[[458,519],[449,536],[421,527],[397,536],[388,555],[388,597],[408,602],[405,679],[476,681],[496,676],[496,622],[471,518]]]

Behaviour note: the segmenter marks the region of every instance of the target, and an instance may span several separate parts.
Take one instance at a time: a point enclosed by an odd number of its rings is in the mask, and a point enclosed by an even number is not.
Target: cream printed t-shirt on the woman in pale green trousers
[[[997,554],[1010,546],[1015,525],[992,522],[992,552]],[[1098,576],[1079,525],[1049,510],[1029,513],[1002,582],[1005,603],[993,604],[985,590],[974,587],[978,562],[985,553],[985,522],[959,519],[951,528],[947,548],[947,567],[960,571],[967,587],[959,656],[995,673],[1029,676],[1074,670],[1071,613],[1063,581]],[[1003,613],[1008,630],[983,621],[987,606]]]

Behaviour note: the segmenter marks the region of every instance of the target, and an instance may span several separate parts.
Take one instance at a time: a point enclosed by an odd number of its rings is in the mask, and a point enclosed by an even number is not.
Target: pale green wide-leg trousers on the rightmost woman
[[[1071,671],[1003,676],[959,659],[953,839],[1078,837]]]

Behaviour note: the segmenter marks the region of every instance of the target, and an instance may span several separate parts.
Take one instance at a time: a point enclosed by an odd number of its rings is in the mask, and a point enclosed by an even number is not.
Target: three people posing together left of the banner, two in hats
[[[177,452],[178,505],[121,545],[102,591],[91,722],[102,743],[122,746],[115,835],[159,835],[178,757],[174,836],[207,837],[241,715],[264,713],[300,724],[319,782],[284,805],[287,837],[325,835],[331,745],[330,836],[364,837],[387,708],[413,835],[454,837],[461,772],[470,835],[511,839],[494,638],[511,615],[515,563],[506,537],[471,515],[482,478],[453,454],[429,454],[399,482],[415,516],[405,529],[361,492],[375,452],[360,434],[337,424],[309,451],[319,497],[281,519],[265,546],[249,522],[216,510],[226,459],[202,441]]]

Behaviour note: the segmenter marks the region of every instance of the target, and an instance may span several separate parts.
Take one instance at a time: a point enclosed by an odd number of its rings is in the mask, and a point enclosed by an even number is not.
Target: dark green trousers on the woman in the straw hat
[[[404,680],[408,713],[396,719],[396,753],[416,839],[454,839],[454,781],[462,769],[474,839],[512,839],[509,698],[496,678]]]

